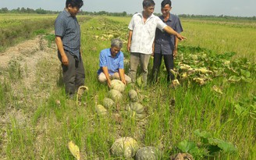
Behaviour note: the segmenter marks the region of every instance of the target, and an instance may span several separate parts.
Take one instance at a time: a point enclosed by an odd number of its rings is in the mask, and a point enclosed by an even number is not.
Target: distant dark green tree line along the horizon
[[[34,13],[34,14],[58,14],[60,11],[51,11],[51,10],[44,10],[44,9],[25,9],[24,7],[17,9],[8,9],[8,8],[2,8],[0,9],[0,13]],[[155,15],[159,16],[160,13],[154,13]],[[91,15],[91,16],[132,16],[133,14],[128,14],[127,12],[106,12],[106,11],[100,11],[100,12],[87,12],[84,10],[80,11],[80,15]],[[208,18],[208,19],[215,19],[215,18],[222,18],[224,20],[256,20],[256,16],[215,16],[215,15],[190,15],[190,14],[180,14],[178,15],[182,18]]]

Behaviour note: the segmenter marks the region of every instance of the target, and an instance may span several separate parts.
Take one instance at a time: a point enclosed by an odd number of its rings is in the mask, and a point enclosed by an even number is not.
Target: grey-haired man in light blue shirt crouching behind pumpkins
[[[123,42],[119,39],[112,39],[111,48],[106,48],[100,53],[100,69],[98,69],[98,80],[101,83],[107,82],[110,87],[112,79],[119,79],[123,84],[130,83],[130,77],[124,73],[123,66]]]

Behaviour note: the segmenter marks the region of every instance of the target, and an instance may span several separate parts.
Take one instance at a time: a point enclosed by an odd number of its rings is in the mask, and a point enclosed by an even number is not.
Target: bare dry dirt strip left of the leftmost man
[[[39,73],[41,80],[38,80],[38,64],[48,62],[50,65],[46,66],[49,69],[45,72]],[[12,68],[20,70],[20,77],[18,80],[10,80]],[[44,73],[46,75],[44,75]],[[13,73],[14,74],[14,73]],[[49,75],[51,74],[51,75]],[[5,52],[0,53],[0,81],[9,84],[11,91],[8,94],[14,97],[5,106],[2,106],[0,112],[0,157],[6,159],[6,145],[7,145],[7,126],[15,118],[16,122],[23,126],[27,125],[33,111],[37,108],[38,101],[35,99],[46,99],[47,94],[51,88],[44,91],[38,88],[38,81],[42,83],[49,83],[51,87],[56,87],[55,79],[43,82],[44,76],[50,78],[59,74],[59,59],[56,55],[55,44],[48,47],[48,41],[44,40],[43,36],[37,36],[32,40],[23,41],[8,48]],[[49,78],[48,78],[49,79]],[[26,94],[24,94],[26,93]]]

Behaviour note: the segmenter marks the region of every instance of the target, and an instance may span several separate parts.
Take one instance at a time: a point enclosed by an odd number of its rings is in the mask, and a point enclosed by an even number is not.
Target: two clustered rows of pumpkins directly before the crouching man
[[[103,105],[96,105],[95,107],[97,114],[100,116],[106,115],[108,108],[113,108],[116,103],[122,101],[125,89],[126,86],[121,80],[112,80],[111,89],[108,91],[108,97],[103,99]],[[130,103],[125,106],[127,115],[136,119],[144,119],[144,106],[140,104],[137,92],[130,90],[128,96]]]

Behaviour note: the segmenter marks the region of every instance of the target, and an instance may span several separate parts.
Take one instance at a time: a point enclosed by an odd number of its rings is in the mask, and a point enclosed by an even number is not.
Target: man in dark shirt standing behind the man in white
[[[177,33],[183,31],[183,28],[180,23],[178,16],[175,16],[170,13],[172,9],[172,2],[170,0],[163,0],[161,3],[161,12],[162,16],[159,18],[167,24],[169,27],[172,27]],[[165,61],[165,68],[167,70],[167,82],[174,80],[174,76],[171,73],[170,69],[173,69],[173,57],[177,54],[179,39],[174,35],[170,35],[166,32],[162,32],[157,29],[155,33],[155,52],[154,52],[154,65],[153,65],[153,80],[157,81],[159,68],[162,62],[162,56]]]

